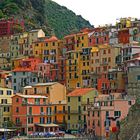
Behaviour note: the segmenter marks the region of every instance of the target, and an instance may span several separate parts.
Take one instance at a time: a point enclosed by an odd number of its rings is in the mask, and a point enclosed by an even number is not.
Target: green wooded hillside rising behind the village
[[[47,35],[63,37],[84,27],[89,21],[51,0],[0,0],[0,18],[24,19],[27,30],[43,28]]]

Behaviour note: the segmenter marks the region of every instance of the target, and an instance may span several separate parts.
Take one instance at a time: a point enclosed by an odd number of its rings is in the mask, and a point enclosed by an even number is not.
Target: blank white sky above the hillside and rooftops
[[[140,18],[140,0],[53,0],[92,25],[115,24],[121,17]]]

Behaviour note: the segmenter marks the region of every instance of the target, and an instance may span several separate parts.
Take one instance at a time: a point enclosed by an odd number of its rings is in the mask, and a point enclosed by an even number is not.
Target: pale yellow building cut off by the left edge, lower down
[[[11,121],[11,106],[13,90],[0,87],[0,126],[2,127],[5,121]]]

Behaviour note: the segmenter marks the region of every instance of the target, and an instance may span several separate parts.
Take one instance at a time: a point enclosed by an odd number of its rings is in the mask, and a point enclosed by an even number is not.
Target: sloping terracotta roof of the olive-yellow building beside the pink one
[[[70,92],[67,96],[82,96],[92,90],[95,90],[95,89],[94,88],[77,88],[74,91]]]

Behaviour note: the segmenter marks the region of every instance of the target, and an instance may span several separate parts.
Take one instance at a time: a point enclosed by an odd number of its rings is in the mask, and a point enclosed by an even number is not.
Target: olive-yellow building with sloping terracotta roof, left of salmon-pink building
[[[98,95],[93,88],[77,88],[67,95],[67,129],[86,129],[86,108]]]

